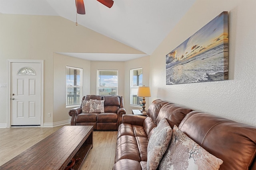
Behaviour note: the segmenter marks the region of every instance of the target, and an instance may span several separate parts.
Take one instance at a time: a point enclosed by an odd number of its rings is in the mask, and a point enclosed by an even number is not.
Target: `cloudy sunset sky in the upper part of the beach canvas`
[[[228,12],[222,12],[168,53],[166,64],[180,63],[223,43],[228,43]]]

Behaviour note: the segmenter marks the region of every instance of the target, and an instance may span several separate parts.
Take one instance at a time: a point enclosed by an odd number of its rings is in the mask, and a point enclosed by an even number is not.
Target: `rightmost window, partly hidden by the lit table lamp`
[[[130,105],[141,106],[142,98],[137,97],[138,87],[142,86],[142,68],[130,70]]]

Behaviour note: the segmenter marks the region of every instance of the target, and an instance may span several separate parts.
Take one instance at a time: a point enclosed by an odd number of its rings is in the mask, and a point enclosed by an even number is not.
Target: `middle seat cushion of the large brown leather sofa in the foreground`
[[[140,161],[140,153],[134,136],[123,135],[116,142],[116,161],[132,159]]]

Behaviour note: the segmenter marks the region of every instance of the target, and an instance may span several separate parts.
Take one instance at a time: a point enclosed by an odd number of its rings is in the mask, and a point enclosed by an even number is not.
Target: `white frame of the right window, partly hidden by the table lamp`
[[[138,82],[139,84],[138,84],[138,86],[133,86],[133,72],[134,72],[134,70],[140,70],[141,69],[141,75],[142,75],[142,80],[141,80],[141,84],[140,84],[140,81]],[[134,99],[134,97],[136,97],[136,101],[137,100],[141,100],[142,101],[142,98],[140,98],[140,97],[137,97],[137,92],[138,92],[138,88],[140,87],[140,86],[142,86],[143,85],[143,67],[138,67],[138,68],[131,68],[130,69],[130,106],[134,106],[134,107],[141,107],[141,105],[138,103],[138,104],[134,104],[134,101],[133,101],[133,99]],[[136,93],[135,93],[135,91],[136,91]]]

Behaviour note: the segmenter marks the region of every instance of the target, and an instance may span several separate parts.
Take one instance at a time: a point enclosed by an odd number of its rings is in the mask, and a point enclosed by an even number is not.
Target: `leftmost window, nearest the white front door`
[[[66,106],[80,105],[82,68],[66,66]]]

